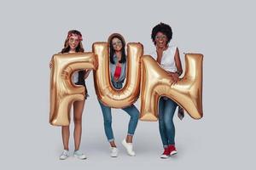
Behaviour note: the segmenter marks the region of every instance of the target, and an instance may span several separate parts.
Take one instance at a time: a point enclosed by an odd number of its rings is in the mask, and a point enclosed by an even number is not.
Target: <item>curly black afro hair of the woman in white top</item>
[[[152,29],[152,33],[151,33],[151,39],[154,42],[155,45],[155,36],[157,34],[157,32],[162,32],[163,34],[166,35],[166,37],[168,38],[167,43],[169,43],[172,39],[172,28],[171,26],[160,22],[160,24],[154,26],[154,28]]]

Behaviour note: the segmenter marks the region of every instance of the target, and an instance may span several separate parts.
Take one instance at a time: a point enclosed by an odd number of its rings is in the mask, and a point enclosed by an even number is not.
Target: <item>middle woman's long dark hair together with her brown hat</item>
[[[113,55],[114,55],[115,51],[114,51],[113,45],[112,45],[112,40],[113,40],[114,37],[118,38],[118,39],[122,42],[122,49],[121,49],[122,56],[121,56],[121,59],[119,60],[119,63],[125,63],[125,62],[126,62],[126,55],[125,55],[125,38],[124,38],[123,36],[121,36],[120,34],[118,34],[118,33],[113,33],[113,34],[111,34],[111,35],[108,37],[108,46],[109,46],[110,62],[111,62],[112,64],[115,64],[115,63],[114,63],[114,60],[113,60]]]

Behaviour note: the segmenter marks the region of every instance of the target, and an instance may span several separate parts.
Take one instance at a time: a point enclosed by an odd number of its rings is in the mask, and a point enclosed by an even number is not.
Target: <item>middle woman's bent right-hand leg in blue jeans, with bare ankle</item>
[[[130,122],[128,125],[128,133],[125,140],[127,143],[132,143],[132,137],[133,137],[133,134],[135,133],[138,118],[139,118],[139,111],[137,110],[137,107],[135,105],[130,105],[128,107],[125,107],[123,110],[131,116]]]

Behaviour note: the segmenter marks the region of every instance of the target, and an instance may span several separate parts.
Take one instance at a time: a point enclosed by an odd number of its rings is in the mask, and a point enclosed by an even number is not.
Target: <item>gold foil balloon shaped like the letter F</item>
[[[97,60],[93,53],[55,54],[50,71],[49,123],[67,126],[70,122],[71,105],[84,99],[84,87],[72,82],[74,71],[96,69]]]

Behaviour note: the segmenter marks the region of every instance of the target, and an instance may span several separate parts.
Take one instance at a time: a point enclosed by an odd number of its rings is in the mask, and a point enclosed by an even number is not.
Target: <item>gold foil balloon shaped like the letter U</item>
[[[109,54],[107,42],[95,42],[93,52],[97,55],[98,69],[94,71],[94,85],[98,99],[104,105],[113,108],[124,108],[133,104],[140,90],[140,58],[143,56],[143,45],[131,42],[127,44],[126,83],[122,89],[112,86],[109,71]]]

